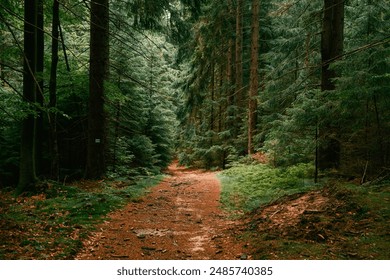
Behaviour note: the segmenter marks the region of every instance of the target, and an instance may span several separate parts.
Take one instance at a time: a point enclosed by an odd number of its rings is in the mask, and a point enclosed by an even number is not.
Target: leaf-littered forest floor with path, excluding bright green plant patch
[[[388,183],[335,183],[244,213],[223,207],[216,175],[173,164],[149,187],[0,190],[0,259],[390,259]]]

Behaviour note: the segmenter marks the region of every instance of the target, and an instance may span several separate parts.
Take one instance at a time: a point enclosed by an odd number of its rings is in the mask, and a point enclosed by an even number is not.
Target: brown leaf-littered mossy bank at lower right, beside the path
[[[296,223],[289,223],[290,216],[284,213],[283,220],[275,226],[272,219],[263,216],[267,207],[247,215],[248,228],[243,238],[254,244],[254,259],[390,258],[390,184],[358,186],[339,181],[315,195],[326,197],[327,206],[304,211]],[[288,203],[284,200],[273,206],[283,209]]]

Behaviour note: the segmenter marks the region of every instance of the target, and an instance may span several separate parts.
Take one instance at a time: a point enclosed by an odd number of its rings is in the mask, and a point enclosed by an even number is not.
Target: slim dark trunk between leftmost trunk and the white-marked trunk
[[[57,65],[59,49],[59,27],[60,27],[60,4],[58,0],[53,0],[53,20],[52,20],[52,43],[51,43],[51,68],[49,81],[49,125],[50,125],[50,153],[51,168],[50,175],[54,180],[59,180],[59,152],[57,138]]]

